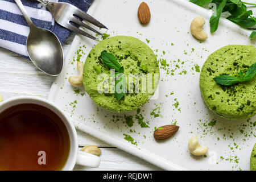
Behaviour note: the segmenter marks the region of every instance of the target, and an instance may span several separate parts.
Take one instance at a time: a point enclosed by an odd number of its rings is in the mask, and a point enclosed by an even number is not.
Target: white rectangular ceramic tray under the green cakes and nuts
[[[81,47],[84,52],[81,61],[85,61],[90,49],[97,44],[79,35],[73,40],[63,72],[52,85],[49,100],[64,109],[78,129],[160,168],[249,170],[250,152],[256,140],[255,117],[250,121],[229,121],[209,111],[201,98],[200,73],[195,71],[195,65],[201,68],[210,53],[228,44],[255,45],[248,38],[250,32],[221,19],[217,32],[211,35],[209,10],[181,0],[145,2],[151,10],[148,26],[141,26],[137,19],[140,1],[96,0],[88,13],[108,26],[110,36],[128,35],[144,42],[150,40],[148,46],[158,55],[158,59],[167,60],[169,71],[175,69],[174,76],[160,69],[159,97],[141,108],[144,121],[148,121],[150,128],[142,128],[135,118],[134,125],[128,127],[123,116],[134,116],[136,110],[123,114],[106,111],[96,106],[82,87],[77,91],[69,84],[68,77],[77,75],[76,62],[73,61],[77,57],[76,51]],[[189,31],[192,19],[198,15],[205,17],[207,23],[204,30],[209,35],[202,43],[193,38]],[[180,72],[181,75],[178,74]],[[177,101],[179,105],[175,108]],[[159,117],[150,115],[152,111],[160,111]],[[115,122],[112,121],[113,115]],[[117,117],[120,117],[120,121],[116,121]],[[180,130],[174,137],[156,142],[154,127],[171,123],[180,126]],[[133,137],[137,146],[125,140],[123,134]],[[198,135],[200,143],[209,147],[207,156],[189,154],[187,144],[193,135]]]

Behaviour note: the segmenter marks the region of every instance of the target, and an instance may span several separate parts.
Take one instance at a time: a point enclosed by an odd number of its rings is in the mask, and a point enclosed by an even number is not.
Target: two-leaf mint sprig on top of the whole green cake
[[[115,56],[112,55],[112,53],[102,51],[101,52],[101,60],[108,68],[115,69],[115,75],[114,75],[114,77],[115,77],[115,97],[117,98],[117,101],[119,102],[121,100],[121,98],[123,98],[125,93],[117,92],[116,86],[117,86],[117,84],[121,85],[121,87],[126,85],[126,80],[122,77],[122,74],[124,73],[124,69],[123,69],[123,67],[121,67],[121,65],[119,64],[117,59],[115,59]],[[119,82],[120,82],[120,84],[119,84]]]

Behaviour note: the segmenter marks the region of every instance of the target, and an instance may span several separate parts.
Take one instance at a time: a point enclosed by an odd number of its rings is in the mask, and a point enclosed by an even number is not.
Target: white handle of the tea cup
[[[76,164],[88,167],[99,167],[100,162],[101,159],[98,156],[78,151]]]

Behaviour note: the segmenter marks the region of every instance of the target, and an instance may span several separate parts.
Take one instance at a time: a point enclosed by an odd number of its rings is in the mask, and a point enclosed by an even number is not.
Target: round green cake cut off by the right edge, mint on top
[[[230,86],[217,84],[221,75],[239,77],[256,62],[254,46],[225,46],[205,61],[200,75],[200,89],[205,104],[214,113],[228,119],[246,119],[256,114],[256,77]]]

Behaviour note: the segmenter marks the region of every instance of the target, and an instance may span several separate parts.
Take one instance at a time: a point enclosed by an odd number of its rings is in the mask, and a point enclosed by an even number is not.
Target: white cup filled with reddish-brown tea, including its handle
[[[77,133],[58,106],[38,97],[0,104],[0,170],[72,170],[98,167],[98,156],[78,150]]]

